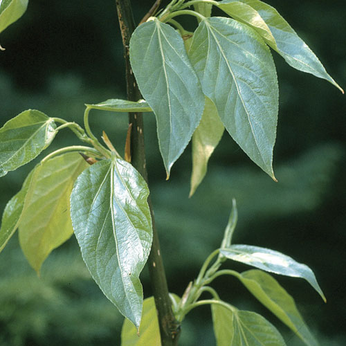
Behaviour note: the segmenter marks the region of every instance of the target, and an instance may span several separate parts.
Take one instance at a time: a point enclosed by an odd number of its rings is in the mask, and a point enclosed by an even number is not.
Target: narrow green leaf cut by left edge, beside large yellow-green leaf
[[[30,185],[33,171],[26,177],[21,190],[8,201],[5,210],[3,210],[1,228],[0,228],[0,251],[6,246],[10,237],[17,230],[21,212],[24,207],[24,199]]]

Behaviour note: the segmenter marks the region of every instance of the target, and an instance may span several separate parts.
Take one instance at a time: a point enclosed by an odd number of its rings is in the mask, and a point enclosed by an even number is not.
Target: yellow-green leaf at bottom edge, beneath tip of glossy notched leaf
[[[179,303],[178,295],[170,294],[170,296],[176,303]],[[134,325],[125,318],[121,329],[121,346],[161,346],[154,297],[147,298],[143,302],[139,336]]]

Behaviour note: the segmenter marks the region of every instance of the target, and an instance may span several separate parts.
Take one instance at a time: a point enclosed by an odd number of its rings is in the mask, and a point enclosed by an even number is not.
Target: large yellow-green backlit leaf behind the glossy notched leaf
[[[67,153],[35,167],[19,221],[19,243],[37,273],[48,255],[73,234],[70,195],[78,175],[89,165]]]

